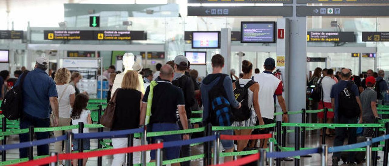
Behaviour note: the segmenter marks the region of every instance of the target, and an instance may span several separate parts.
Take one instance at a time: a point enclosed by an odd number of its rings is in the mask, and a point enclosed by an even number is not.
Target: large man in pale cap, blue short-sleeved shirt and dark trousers
[[[49,60],[47,57],[38,57],[35,69],[30,71],[23,82],[23,112],[20,118],[20,129],[34,127],[50,127],[50,112],[54,115],[54,126],[58,125],[58,94],[55,82],[46,73]],[[22,74],[22,75],[23,75]],[[22,76],[20,77],[22,78]],[[20,78],[16,85],[20,83]],[[51,106],[51,111],[50,111]],[[37,140],[49,138],[49,132],[35,133]],[[19,135],[20,142],[28,141],[28,134]],[[49,154],[49,145],[37,146],[38,156]],[[27,148],[19,149],[19,157],[25,158]]]

